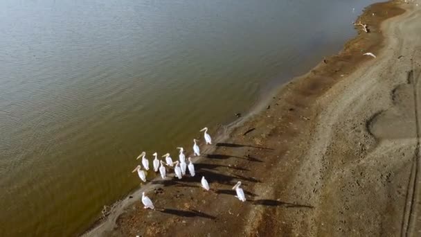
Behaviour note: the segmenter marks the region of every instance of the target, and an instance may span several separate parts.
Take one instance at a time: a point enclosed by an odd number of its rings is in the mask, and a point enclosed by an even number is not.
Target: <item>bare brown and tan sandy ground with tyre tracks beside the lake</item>
[[[155,211],[136,191],[85,235],[421,236],[421,6],[377,3],[360,20],[370,33],[208,146],[195,177],[145,186]]]

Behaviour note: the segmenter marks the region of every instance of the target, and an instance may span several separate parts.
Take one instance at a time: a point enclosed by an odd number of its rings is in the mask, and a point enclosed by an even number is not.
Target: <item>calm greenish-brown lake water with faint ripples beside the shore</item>
[[[190,151],[339,51],[373,2],[1,1],[0,236],[80,234],[138,188],[143,150]]]

